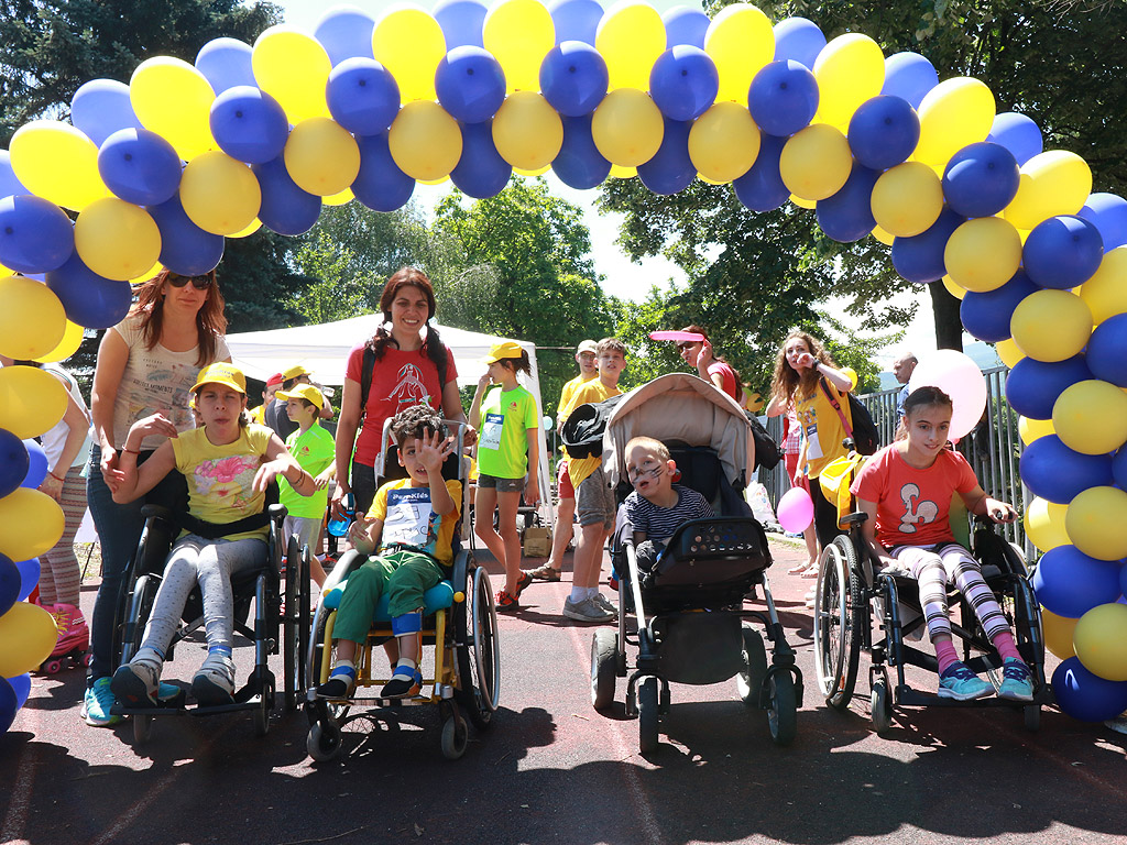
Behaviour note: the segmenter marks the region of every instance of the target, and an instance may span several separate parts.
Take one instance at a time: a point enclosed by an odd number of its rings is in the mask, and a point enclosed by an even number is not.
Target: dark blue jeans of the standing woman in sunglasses
[[[137,463],[144,463],[151,454],[152,452],[142,452],[137,455]],[[125,570],[133,560],[144,528],[141,508],[144,505],[163,505],[174,510],[183,510],[184,491],[184,477],[172,470],[136,501],[118,505],[101,477],[101,447],[95,445],[90,450],[86,497],[94,526],[98,531],[98,544],[101,546],[101,586],[98,587],[94,615],[90,617],[89,684],[98,678],[109,677],[117,660],[117,655],[113,653],[117,602],[124,587]]]

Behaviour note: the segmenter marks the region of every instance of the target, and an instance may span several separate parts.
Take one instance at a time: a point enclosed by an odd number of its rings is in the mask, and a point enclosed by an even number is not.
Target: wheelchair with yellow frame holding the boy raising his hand
[[[384,426],[383,442],[388,443],[390,421]],[[464,426],[446,421],[462,442]],[[456,427],[456,429],[455,429]],[[398,451],[392,444],[380,455],[378,484],[406,478],[399,465]],[[388,597],[384,594],[376,607],[367,640],[356,655],[356,688],[341,700],[325,700],[317,695],[317,686],[329,678],[336,649],[332,628],[348,576],[367,560],[367,555],[349,550],[337,561],[321,592],[313,615],[313,635],[307,661],[310,679],[305,696],[309,735],[305,748],[318,762],[336,757],[343,747],[346,724],[370,715],[370,709],[399,710],[419,705],[438,706],[442,720],[441,748],[446,759],[459,759],[469,741],[469,722],[479,731],[492,724],[500,687],[500,643],[497,639],[497,611],[489,585],[489,575],[473,558],[472,550],[461,545],[465,519],[469,462],[461,451],[446,459],[443,477],[462,482],[461,517],[454,528],[454,561],[449,580],[440,581],[424,594],[421,643],[424,661],[423,688],[408,699],[380,699],[378,692],[390,679],[378,664],[383,660],[382,644],[392,638]],[[433,662],[428,665],[426,651],[433,648]]]

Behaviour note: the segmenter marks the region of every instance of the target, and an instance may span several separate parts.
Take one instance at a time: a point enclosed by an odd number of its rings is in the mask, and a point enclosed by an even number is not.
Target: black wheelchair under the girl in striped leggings
[[[854,468],[855,472],[855,468]],[[848,482],[852,481],[852,473]],[[855,500],[851,498],[851,505]],[[851,507],[852,509],[852,507]],[[970,552],[983,578],[997,599],[1014,632],[1014,642],[1033,678],[1031,702],[999,697],[956,701],[912,687],[905,667],[915,666],[938,675],[935,655],[909,641],[926,635],[919,585],[897,567],[880,568],[861,534],[868,515],[853,512],[841,518],[848,534],[838,535],[819,559],[814,606],[814,651],[817,682],[826,703],[844,712],[853,697],[861,652],[869,655],[870,714],[873,729],[882,733],[891,726],[894,706],[956,706],[1020,709],[1024,726],[1036,731],[1041,706],[1053,695],[1045,681],[1045,640],[1040,608],[1026,569],[1024,555],[977,517]],[[951,634],[962,661],[976,674],[986,674],[995,690],[1002,683],[1002,658],[986,638],[974,611],[952,586],[948,606],[959,607],[951,619]],[[960,648],[961,647],[961,648]],[[895,683],[889,678],[895,669]]]

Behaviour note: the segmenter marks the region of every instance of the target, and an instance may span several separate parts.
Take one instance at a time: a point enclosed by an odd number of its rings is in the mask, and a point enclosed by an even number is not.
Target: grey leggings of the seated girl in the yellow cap
[[[168,653],[168,646],[184,613],[184,603],[198,584],[204,598],[207,648],[230,649],[234,637],[231,576],[254,569],[261,563],[265,554],[266,542],[257,539],[204,540],[187,534],[176,541],[165,564],[165,578],[157,590],[141,648],[156,649],[162,656]]]

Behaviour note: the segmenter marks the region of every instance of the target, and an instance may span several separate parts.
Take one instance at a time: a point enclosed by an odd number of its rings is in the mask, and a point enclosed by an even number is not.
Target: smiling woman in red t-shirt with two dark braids
[[[414,267],[400,268],[383,287],[380,310],[383,322],[375,330],[375,336],[348,354],[337,420],[337,488],[332,493],[332,510],[337,515],[340,514],[340,500],[348,492],[355,497],[357,514],[366,514],[372,506],[375,498],[375,461],[382,446],[380,436],[385,420],[409,406],[425,402],[446,419],[465,421],[458,392],[454,355],[429,324],[435,312],[431,279]],[[390,331],[387,323],[391,323]],[[369,348],[375,354],[375,365],[367,401],[362,409],[364,350]],[[443,376],[441,383],[440,374]],[[356,444],[355,455],[353,442]]]

